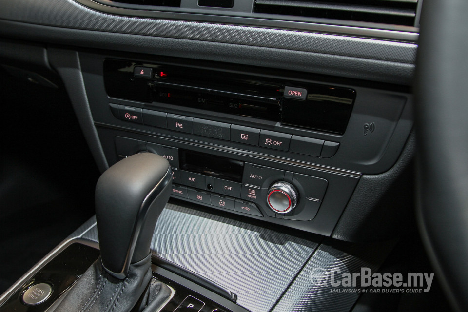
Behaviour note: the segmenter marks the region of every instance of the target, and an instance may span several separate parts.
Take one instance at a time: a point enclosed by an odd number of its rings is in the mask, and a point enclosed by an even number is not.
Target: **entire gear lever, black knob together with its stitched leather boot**
[[[96,219],[101,256],[55,312],[141,312],[147,306],[156,311],[169,297],[165,284],[149,284],[151,239],[171,184],[169,162],[152,153],[125,158],[100,176]]]

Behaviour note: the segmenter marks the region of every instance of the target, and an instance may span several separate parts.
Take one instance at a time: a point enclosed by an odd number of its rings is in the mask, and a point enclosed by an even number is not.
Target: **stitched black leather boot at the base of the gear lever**
[[[150,264],[151,255],[148,255],[132,264],[127,276],[119,280],[106,273],[98,258],[54,312],[129,312],[134,307],[139,312],[156,311],[153,308],[159,307],[171,291],[160,282],[153,281],[150,285]]]

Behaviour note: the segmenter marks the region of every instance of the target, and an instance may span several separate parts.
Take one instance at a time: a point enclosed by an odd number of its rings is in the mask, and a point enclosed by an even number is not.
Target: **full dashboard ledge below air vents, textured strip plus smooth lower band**
[[[306,31],[130,18],[72,0],[0,0],[0,7],[0,35],[5,37],[260,66],[274,61],[279,68],[399,84],[410,83],[417,48],[414,43]],[[281,57],[275,57],[278,53]]]

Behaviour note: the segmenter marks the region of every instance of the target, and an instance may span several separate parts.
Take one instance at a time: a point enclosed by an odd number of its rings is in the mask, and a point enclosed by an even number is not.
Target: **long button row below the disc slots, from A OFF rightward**
[[[278,151],[330,158],[340,143],[316,138],[292,136],[264,129],[244,127],[224,122],[179,116],[126,105],[109,104],[115,117],[130,122],[169,130],[213,137],[222,140],[270,148]]]

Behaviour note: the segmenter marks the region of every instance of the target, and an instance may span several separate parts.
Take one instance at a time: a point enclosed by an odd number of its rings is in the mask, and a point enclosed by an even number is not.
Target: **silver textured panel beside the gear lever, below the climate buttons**
[[[97,241],[96,227],[82,237]],[[151,249],[236,293],[240,306],[267,312],[316,247],[314,241],[169,203]]]

